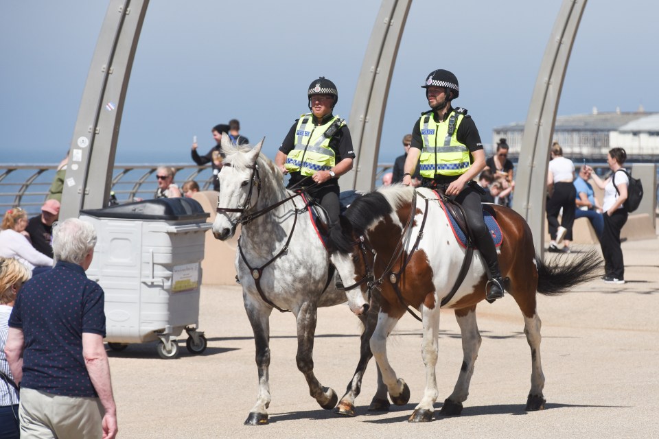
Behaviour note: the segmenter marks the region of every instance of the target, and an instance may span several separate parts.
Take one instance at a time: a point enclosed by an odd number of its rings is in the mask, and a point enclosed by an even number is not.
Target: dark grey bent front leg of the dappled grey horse
[[[314,333],[318,309],[314,302],[305,302],[297,312],[297,368],[302,372],[309,385],[309,394],[325,410],[333,409],[338,396],[332,388],[323,387],[314,375]]]

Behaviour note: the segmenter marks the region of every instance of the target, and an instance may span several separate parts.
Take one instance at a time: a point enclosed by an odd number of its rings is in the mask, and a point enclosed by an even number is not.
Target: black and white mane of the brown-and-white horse
[[[402,204],[411,202],[413,193],[414,188],[410,186],[381,187],[378,191],[354,200],[344,215],[356,233],[361,234],[380,218],[391,215]]]

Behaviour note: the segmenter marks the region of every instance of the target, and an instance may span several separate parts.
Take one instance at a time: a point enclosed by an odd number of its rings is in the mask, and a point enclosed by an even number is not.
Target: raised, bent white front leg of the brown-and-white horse
[[[396,377],[396,372],[386,357],[386,338],[389,337],[397,322],[397,318],[391,318],[382,312],[378,314],[378,325],[375,327],[373,337],[371,337],[371,351],[378,367],[380,367],[382,382],[389,391],[391,401],[395,405],[404,405],[410,401],[410,388],[403,379]]]

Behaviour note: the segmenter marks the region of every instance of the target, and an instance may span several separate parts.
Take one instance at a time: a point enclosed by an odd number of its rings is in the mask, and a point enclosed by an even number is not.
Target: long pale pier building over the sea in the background
[[[524,121],[499,126],[492,130],[494,143],[505,137],[509,156],[515,161],[520,154]],[[563,148],[563,154],[573,160],[606,161],[612,147],[623,147],[629,161],[659,161],[659,112],[599,112],[590,115],[557,116],[553,141]],[[509,157],[509,158],[511,158]]]

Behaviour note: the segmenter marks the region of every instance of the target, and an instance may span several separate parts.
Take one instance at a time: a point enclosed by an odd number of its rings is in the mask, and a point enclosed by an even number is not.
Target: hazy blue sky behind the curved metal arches
[[[107,2],[0,2],[0,161],[51,163],[65,155]],[[437,68],[460,82],[456,106],[484,143],[523,121],[561,1],[413,1],[389,93],[380,161],[402,153]],[[240,119],[274,157],[308,110],[319,75],[339,89],[348,117],[380,1],[150,2],[132,69],[117,163],[187,163],[210,128]],[[659,110],[659,3],[590,1],[564,82],[559,115]]]

